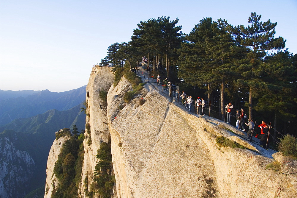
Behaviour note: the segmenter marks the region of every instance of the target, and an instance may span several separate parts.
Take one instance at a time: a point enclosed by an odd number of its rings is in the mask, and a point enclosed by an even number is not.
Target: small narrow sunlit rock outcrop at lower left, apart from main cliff
[[[61,130],[60,130],[61,131]],[[57,133],[57,132],[56,132]],[[52,191],[59,186],[59,181],[54,174],[55,163],[58,160],[59,154],[63,144],[69,139],[69,136],[62,136],[59,139],[55,139],[53,145],[50,147],[48,155],[48,163],[46,167],[46,181],[45,181],[45,194],[44,198],[52,197]]]

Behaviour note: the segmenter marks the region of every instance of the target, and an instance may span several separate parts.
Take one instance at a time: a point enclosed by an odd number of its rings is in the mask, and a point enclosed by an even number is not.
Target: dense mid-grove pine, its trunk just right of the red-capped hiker
[[[212,18],[203,18],[198,25],[192,29],[189,35],[185,36],[185,41],[178,50],[180,67],[178,76],[191,85],[198,85],[203,88],[208,87],[208,101],[210,101],[211,83],[213,74],[210,55],[206,52],[207,40],[215,36]]]

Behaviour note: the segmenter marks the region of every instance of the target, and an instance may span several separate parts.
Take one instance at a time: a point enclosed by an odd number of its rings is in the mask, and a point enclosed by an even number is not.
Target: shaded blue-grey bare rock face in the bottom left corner
[[[35,169],[33,158],[15,148],[15,133],[10,138],[0,134],[0,197],[24,197]]]

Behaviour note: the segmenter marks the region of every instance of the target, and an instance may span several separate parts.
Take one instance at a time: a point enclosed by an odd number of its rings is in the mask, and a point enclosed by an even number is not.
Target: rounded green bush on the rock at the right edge
[[[297,138],[292,135],[286,135],[280,139],[278,145],[279,151],[283,152],[285,156],[297,157]]]

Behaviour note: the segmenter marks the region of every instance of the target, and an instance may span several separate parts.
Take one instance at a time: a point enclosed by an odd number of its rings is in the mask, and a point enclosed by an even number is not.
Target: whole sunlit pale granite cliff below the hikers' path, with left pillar
[[[112,197],[297,197],[295,160],[247,141],[243,132],[218,119],[189,113],[150,83],[126,103],[130,82],[122,77],[113,86],[113,79],[110,67],[93,68],[86,88],[78,197],[89,197],[102,142],[111,144]],[[107,102],[100,91],[108,91]],[[219,136],[247,149],[219,147]],[[274,161],[280,164],[277,172],[266,169]]]

